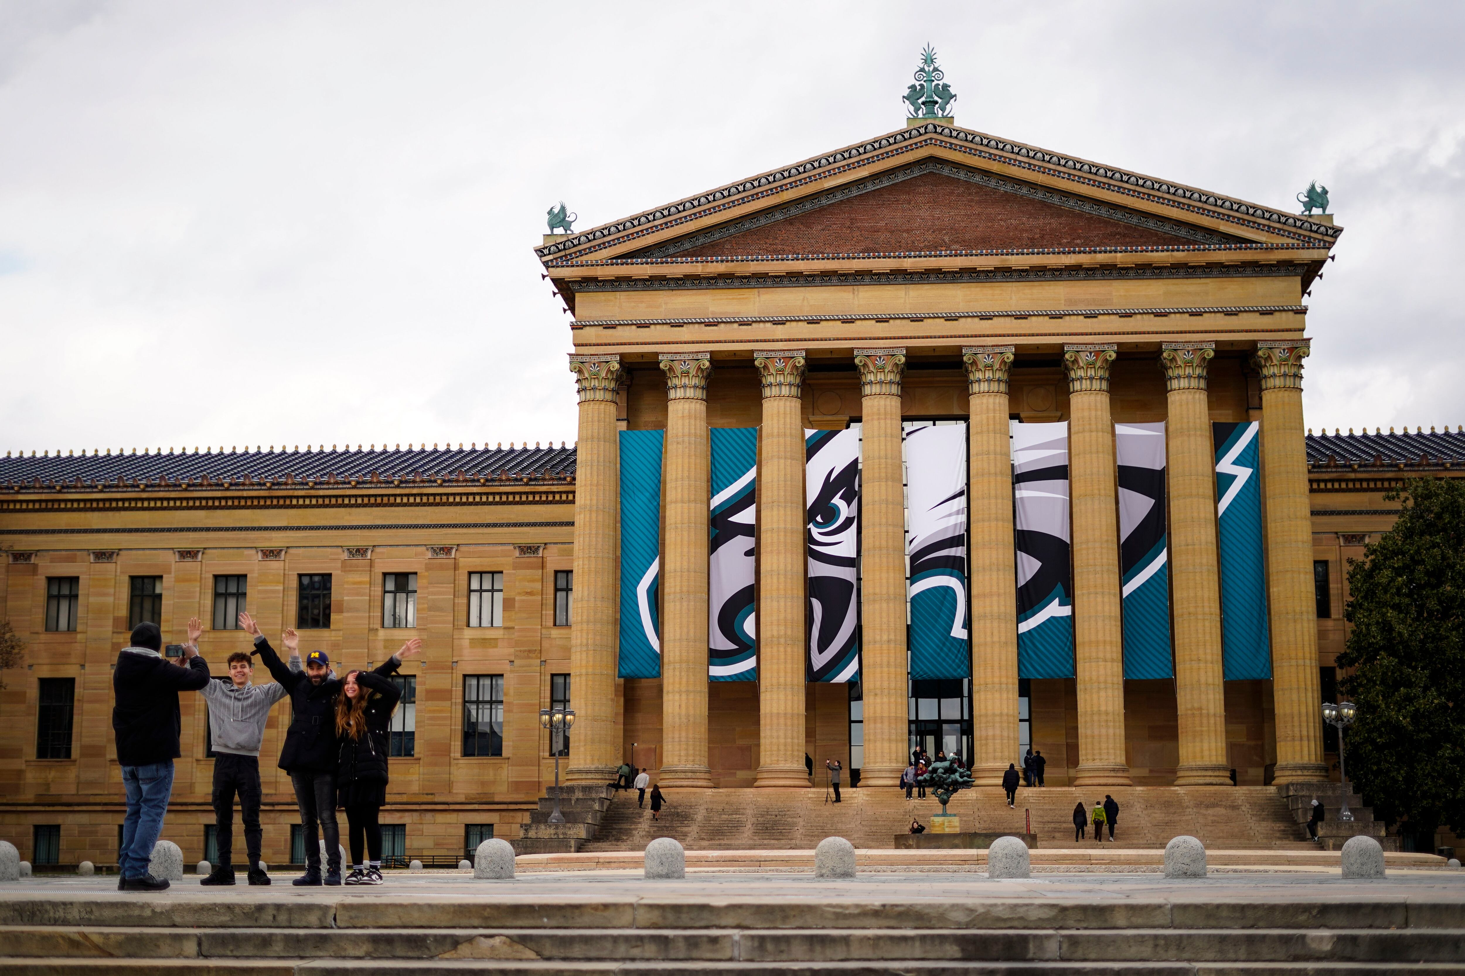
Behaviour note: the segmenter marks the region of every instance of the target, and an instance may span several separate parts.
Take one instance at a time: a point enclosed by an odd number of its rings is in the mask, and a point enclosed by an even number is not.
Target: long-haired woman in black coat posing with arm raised
[[[393,667],[422,650],[413,639],[393,657]],[[350,672],[335,702],[335,736],[340,754],[335,789],[350,825],[352,872],[344,884],[381,884],[381,808],[387,803],[387,755],[391,713],[401,689],[375,672]],[[368,859],[362,859],[362,847]]]

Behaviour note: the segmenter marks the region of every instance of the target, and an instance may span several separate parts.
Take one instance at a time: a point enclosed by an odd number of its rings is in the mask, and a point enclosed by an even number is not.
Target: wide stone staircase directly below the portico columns
[[[929,824],[941,812],[935,799],[907,800],[894,787],[847,789],[842,803],[829,802],[834,796],[826,799],[822,789],[664,793],[658,821],[649,806],[637,808],[634,792],[614,793],[595,837],[579,850],[642,850],[656,837],[674,837],[689,850],[806,850],[825,837],[844,837],[856,847],[894,847],[895,834],[905,833],[913,817]],[[1172,837],[1191,834],[1212,850],[1316,849],[1291,799],[1270,786],[1047,786],[1020,789],[1015,809],[1008,809],[1001,789],[976,787],[958,793],[949,812],[961,817],[964,831],[990,833],[1021,833],[1030,814],[1040,847],[1097,846],[1091,827],[1084,840],[1074,840],[1074,805],[1081,802],[1091,814],[1106,793],[1119,803],[1115,841],[1121,847],[1165,847]],[[1324,802],[1335,817],[1336,800]],[[1103,843],[1109,843],[1108,833]]]

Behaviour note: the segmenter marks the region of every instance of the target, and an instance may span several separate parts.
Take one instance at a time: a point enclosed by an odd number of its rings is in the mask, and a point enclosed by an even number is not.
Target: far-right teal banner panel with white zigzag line
[[[1260,424],[1212,424],[1220,538],[1220,632],[1226,680],[1272,677],[1261,553]]]

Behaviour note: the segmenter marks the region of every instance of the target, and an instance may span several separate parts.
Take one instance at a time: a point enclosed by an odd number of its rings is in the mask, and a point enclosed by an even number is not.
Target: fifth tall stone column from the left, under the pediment
[[[1012,565],[1011,345],[961,350],[971,407],[971,778],[999,786],[1018,755],[1017,572]]]

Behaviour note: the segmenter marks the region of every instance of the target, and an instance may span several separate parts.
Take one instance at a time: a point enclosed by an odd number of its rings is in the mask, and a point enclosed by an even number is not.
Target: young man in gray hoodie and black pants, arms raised
[[[189,642],[202,634],[198,617],[189,620]],[[299,644],[290,648],[290,670],[300,670]],[[245,847],[249,852],[249,884],[270,884],[270,875],[259,866],[264,833],[259,830],[259,745],[270,721],[270,708],[286,697],[284,685],[271,682],[253,685],[255,667],[249,654],[229,656],[229,680],[211,680],[204,686],[208,701],[208,732],[214,748],[214,824],[218,841],[218,865],[199,884],[234,884],[234,795],[245,821]]]

